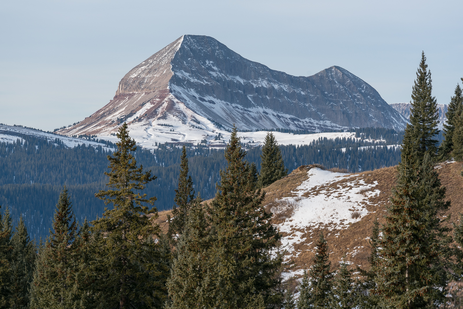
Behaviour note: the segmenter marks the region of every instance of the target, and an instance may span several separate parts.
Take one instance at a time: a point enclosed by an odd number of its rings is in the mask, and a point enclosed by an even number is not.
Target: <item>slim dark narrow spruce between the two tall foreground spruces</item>
[[[188,176],[188,158],[185,145],[181,151],[180,176],[178,177],[178,187],[175,189],[174,202],[178,206],[172,208],[172,219],[168,215],[169,235],[181,234],[187,221],[188,208],[194,198],[193,181]]]

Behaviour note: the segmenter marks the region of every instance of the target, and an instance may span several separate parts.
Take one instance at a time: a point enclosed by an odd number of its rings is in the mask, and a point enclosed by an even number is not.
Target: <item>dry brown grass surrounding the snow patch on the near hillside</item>
[[[439,173],[439,178],[442,184],[447,188],[447,199],[451,201],[451,207],[445,212],[444,215],[451,220],[448,220],[445,224],[450,226],[450,221],[457,221],[459,213],[463,213],[463,177],[460,175],[461,163],[443,164],[442,167],[436,169]],[[291,213],[291,206],[276,206],[276,201],[281,201],[283,197],[295,197],[294,190],[302,183],[307,180],[307,171],[314,165],[300,166],[294,170],[287,177],[284,177],[275,183],[272,183],[263,190],[267,192],[263,205],[266,210],[272,208],[286,209],[280,214],[275,212],[273,223],[279,224],[286,220]],[[300,254],[297,258],[292,258],[292,262],[296,267],[307,268],[312,265],[312,258],[314,256],[313,246],[315,240],[318,238],[319,233],[323,232],[328,242],[330,249],[329,259],[332,262],[333,267],[338,265],[338,261],[341,259],[344,253],[352,252],[355,247],[358,251],[355,255],[348,255],[348,260],[353,262],[354,265],[361,265],[362,268],[368,269],[368,257],[370,254],[369,240],[367,237],[371,236],[371,229],[373,222],[378,220],[380,224],[384,222],[385,210],[389,203],[389,196],[391,194],[391,188],[395,183],[396,175],[395,167],[388,167],[373,171],[365,171],[358,173],[357,178],[362,178],[365,183],[378,184],[372,189],[363,190],[361,193],[366,191],[379,189],[381,193],[373,197],[369,197],[369,203],[363,206],[363,209],[368,210],[369,214],[364,215],[360,221],[350,224],[350,227],[342,230],[330,231],[327,226],[320,226],[319,228],[312,228],[310,231],[300,230],[303,233],[302,238],[306,237],[305,241],[301,241],[300,244],[294,245],[294,250],[297,252],[300,250]],[[357,175],[357,174],[356,174]],[[331,186],[341,185],[345,186],[347,182],[352,182],[354,177],[339,177],[339,181],[332,184]],[[326,189],[326,188],[325,188]],[[293,191],[293,192],[292,192]],[[292,210],[294,211],[294,209]],[[167,231],[167,214],[170,211],[163,211],[159,213],[159,218],[156,219],[156,223],[161,225],[163,231]],[[284,218],[284,219],[283,219]],[[348,222],[344,222],[347,224]],[[286,236],[286,235],[285,235]],[[312,237],[312,238],[311,238]],[[312,245],[308,245],[313,242]]]

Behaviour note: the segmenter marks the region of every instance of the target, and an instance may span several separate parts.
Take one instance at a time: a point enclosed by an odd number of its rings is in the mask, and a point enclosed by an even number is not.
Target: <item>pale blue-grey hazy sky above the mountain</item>
[[[270,69],[338,65],[388,103],[408,102],[425,51],[433,95],[463,77],[463,1],[0,2],[0,123],[53,130],[106,105],[130,69],[183,34]]]

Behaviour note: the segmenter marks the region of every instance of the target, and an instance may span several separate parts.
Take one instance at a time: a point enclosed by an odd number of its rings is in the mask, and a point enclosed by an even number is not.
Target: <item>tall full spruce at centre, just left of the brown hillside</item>
[[[265,192],[255,189],[254,177],[244,161],[237,128],[225,149],[227,167],[220,171],[215,198],[207,205],[213,235],[212,256],[218,277],[214,279],[216,308],[261,308],[281,303],[275,293],[281,258],[272,258],[280,234],[271,224],[262,201]]]

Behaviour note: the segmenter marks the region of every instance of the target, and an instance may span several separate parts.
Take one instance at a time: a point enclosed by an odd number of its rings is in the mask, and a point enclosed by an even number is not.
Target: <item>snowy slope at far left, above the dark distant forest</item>
[[[0,125],[0,142],[16,142],[18,139],[22,141],[22,139],[17,134],[25,134],[29,136],[35,136],[39,139],[48,139],[48,140],[55,140],[60,139],[64,145],[67,147],[75,147],[77,145],[92,145],[94,147],[102,146],[106,150],[113,150],[113,148],[106,147],[105,144],[101,144],[98,142],[90,141],[87,139],[78,139],[69,136],[29,129],[21,126],[6,126]]]

